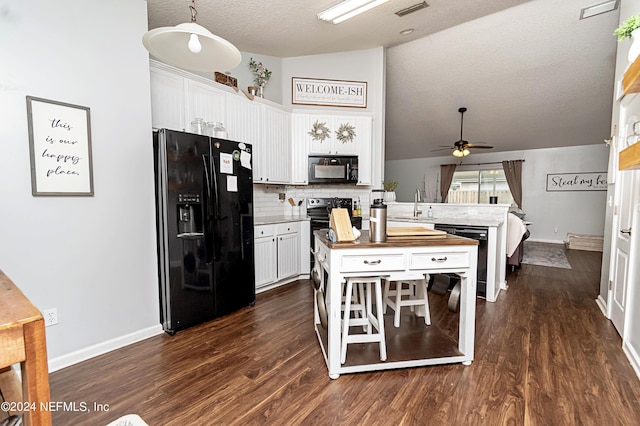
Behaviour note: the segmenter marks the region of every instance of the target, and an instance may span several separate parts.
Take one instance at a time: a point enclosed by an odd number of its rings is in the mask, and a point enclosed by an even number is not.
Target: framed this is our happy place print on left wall
[[[31,192],[93,196],[88,107],[27,96]]]

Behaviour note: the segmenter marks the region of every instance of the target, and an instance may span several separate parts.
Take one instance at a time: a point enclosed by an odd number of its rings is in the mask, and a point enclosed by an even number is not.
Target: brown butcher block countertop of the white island
[[[419,236],[407,236],[407,237],[393,237],[387,238],[385,242],[371,242],[369,241],[369,231],[362,231],[362,235],[355,241],[346,242],[331,242],[327,238],[327,230],[321,229],[314,231],[313,233],[317,238],[320,238],[327,247],[331,249],[349,249],[349,248],[397,248],[397,247],[424,247],[424,246],[475,246],[478,245],[477,240],[471,238],[459,237],[457,235],[443,235],[443,236],[425,236],[419,238]]]

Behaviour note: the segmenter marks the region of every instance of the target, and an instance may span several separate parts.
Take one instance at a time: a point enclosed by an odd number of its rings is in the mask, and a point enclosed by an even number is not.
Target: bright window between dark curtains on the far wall
[[[504,170],[461,170],[453,174],[447,202],[488,204],[491,196],[498,197],[499,204],[513,203]]]

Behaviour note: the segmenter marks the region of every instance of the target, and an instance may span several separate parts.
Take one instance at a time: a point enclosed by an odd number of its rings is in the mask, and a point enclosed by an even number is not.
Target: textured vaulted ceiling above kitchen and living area
[[[618,11],[593,0],[391,0],[339,25],[337,0],[199,0],[197,22],[240,50],[291,57],[385,46],[386,159],[447,155],[464,139],[498,152],[602,143],[611,121]],[[147,0],[149,29],[190,20],[187,0]],[[408,36],[399,32],[415,28]]]

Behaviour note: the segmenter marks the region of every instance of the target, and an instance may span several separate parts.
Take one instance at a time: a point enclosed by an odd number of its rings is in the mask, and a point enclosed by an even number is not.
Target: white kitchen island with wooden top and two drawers
[[[371,243],[364,231],[355,242],[335,243],[326,230],[315,231],[317,262],[327,272],[321,278],[320,299],[314,307],[314,326],[329,377],[362,371],[419,367],[473,361],[476,303],[477,244],[475,240],[446,235],[437,239],[406,239]],[[346,277],[388,276],[392,273],[454,273],[460,276],[458,339],[432,321],[427,326],[407,309],[399,328],[392,314],[385,317],[387,360],[380,361],[378,345],[351,344],[345,364],[340,363],[342,291]],[[324,274],[320,274],[324,277]],[[325,282],[326,281],[326,282]],[[324,294],[320,293],[324,292]],[[321,318],[326,311],[326,318]],[[326,321],[325,321],[326,320]],[[326,322],[326,329],[322,323]]]

